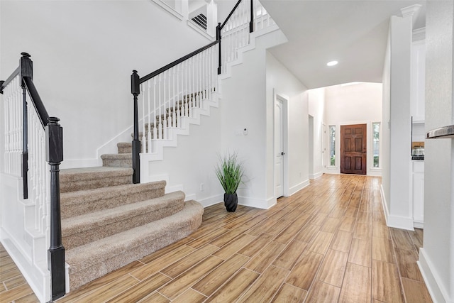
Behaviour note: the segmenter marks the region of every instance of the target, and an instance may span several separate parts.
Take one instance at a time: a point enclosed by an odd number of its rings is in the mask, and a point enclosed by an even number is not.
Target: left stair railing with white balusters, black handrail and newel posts
[[[33,83],[30,55],[21,55],[19,67],[6,81],[0,82],[0,93],[4,95],[4,173],[22,177],[23,199],[35,205],[34,222],[26,222],[26,225],[47,237],[50,222],[48,268],[52,299],[57,299],[65,295],[59,181],[59,165],[63,160],[62,127],[58,118],[49,117]]]

